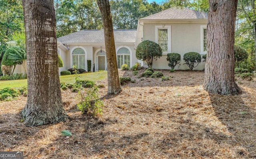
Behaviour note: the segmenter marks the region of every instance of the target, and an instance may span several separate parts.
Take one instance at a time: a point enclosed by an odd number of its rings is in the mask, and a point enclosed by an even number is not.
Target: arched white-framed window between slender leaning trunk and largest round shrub
[[[130,51],[128,48],[120,48],[117,52],[117,66],[121,68],[123,64],[127,64],[130,68]]]

